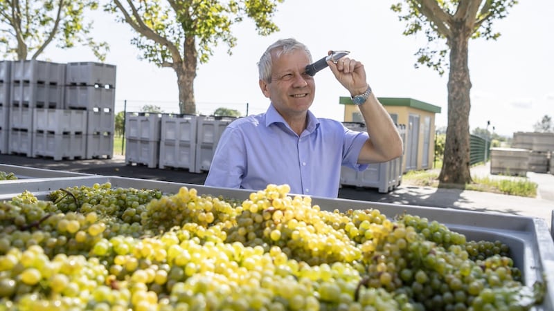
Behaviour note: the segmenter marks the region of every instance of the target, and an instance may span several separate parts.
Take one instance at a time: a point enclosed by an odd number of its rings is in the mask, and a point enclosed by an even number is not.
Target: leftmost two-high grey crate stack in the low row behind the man
[[[161,114],[125,114],[125,163],[158,167]]]

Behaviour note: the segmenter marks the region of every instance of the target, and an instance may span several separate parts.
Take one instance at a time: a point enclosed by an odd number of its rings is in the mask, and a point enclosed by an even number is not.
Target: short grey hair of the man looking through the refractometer
[[[272,55],[279,57],[280,55],[289,54],[296,50],[304,50],[307,53],[307,57],[310,59],[310,63],[312,63],[312,53],[310,53],[307,46],[296,41],[296,39],[279,39],[274,44],[271,44],[271,46],[268,46],[267,50],[265,50],[260,58],[260,62],[258,62],[260,80],[267,83],[271,82],[271,70],[273,70]]]

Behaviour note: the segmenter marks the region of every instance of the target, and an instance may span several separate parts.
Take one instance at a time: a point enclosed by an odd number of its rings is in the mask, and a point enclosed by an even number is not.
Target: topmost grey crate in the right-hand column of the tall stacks
[[[71,62],[66,66],[66,84],[116,87],[116,66],[95,62]]]

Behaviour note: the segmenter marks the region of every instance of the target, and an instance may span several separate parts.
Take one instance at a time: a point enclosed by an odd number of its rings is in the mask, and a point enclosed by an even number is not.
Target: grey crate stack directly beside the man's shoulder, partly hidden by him
[[[196,164],[194,173],[208,171],[217,142],[236,117],[199,116],[197,122]]]

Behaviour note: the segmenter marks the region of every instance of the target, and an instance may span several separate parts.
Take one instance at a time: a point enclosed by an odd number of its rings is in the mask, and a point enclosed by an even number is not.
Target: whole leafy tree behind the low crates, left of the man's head
[[[179,111],[194,114],[197,65],[208,62],[220,42],[229,47],[231,55],[237,41],[231,26],[244,17],[253,19],[260,35],[277,31],[270,18],[280,2],[283,0],[114,0],[105,9],[137,32],[131,43],[142,51],[142,59],[175,70]]]

